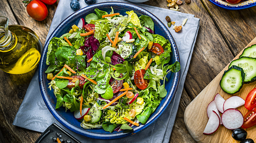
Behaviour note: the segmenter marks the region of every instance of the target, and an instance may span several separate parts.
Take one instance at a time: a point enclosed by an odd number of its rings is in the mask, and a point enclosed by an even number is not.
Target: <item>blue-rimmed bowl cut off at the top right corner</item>
[[[229,9],[229,10],[239,10],[239,9],[245,9],[245,8],[256,6],[256,0],[246,0],[238,4],[230,4],[222,0],[209,0],[209,1],[218,7]]]

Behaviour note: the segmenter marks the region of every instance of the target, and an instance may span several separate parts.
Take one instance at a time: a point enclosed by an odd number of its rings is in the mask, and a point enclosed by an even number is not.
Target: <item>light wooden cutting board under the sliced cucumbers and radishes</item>
[[[253,44],[256,44],[256,37],[245,48]],[[243,51],[244,50],[242,50],[234,59],[238,59]],[[256,87],[255,81],[250,84],[244,84],[238,93],[225,93],[220,87],[220,80],[224,71],[228,69],[228,65],[197,95],[185,110],[184,121],[186,127],[190,135],[199,143],[239,143],[239,141],[232,138],[232,130],[226,129],[223,125],[220,125],[219,129],[212,135],[203,135],[203,130],[208,121],[206,108],[208,103],[214,99],[214,96],[217,93],[220,93],[225,100],[231,96],[239,96],[245,100],[247,94]],[[243,116],[247,113],[245,106],[238,107],[237,109],[241,111]],[[247,138],[256,141],[256,126],[245,130],[248,133]]]

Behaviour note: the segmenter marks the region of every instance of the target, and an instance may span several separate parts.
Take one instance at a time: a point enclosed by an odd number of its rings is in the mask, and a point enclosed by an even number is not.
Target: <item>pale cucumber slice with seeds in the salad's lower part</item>
[[[102,111],[100,109],[101,108],[100,108],[99,104],[95,103],[93,105],[93,107],[89,110],[88,115],[91,116],[91,120],[89,121],[89,123],[93,124],[100,120],[100,118],[102,116]]]

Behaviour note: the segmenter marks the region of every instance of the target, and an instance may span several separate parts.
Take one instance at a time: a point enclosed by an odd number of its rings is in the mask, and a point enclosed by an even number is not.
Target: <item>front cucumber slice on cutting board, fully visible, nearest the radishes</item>
[[[245,72],[242,68],[233,65],[224,74],[220,81],[220,86],[223,91],[229,94],[234,94],[243,87],[245,80]]]

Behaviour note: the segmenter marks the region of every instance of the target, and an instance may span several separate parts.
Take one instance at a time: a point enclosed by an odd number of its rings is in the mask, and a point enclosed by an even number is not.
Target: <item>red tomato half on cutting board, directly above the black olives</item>
[[[250,128],[252,126],[256,125],[256,108],[249,111],[245,117],[244,117],[244,124],[242,125],[242,128]]]

